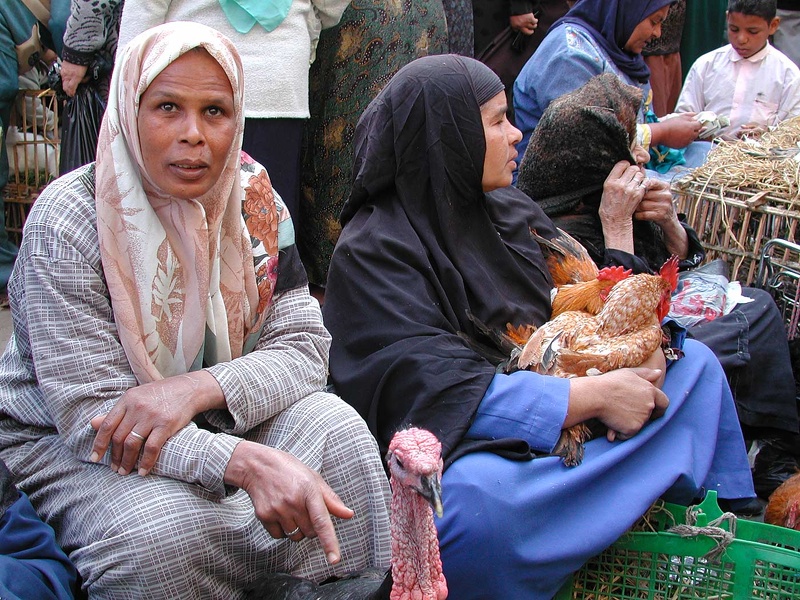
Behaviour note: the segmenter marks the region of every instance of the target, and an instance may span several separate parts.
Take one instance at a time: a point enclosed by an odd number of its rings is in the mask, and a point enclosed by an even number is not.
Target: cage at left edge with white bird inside
[[[20,90],[11,123],[5,132],[9,173],[3,199],[6,231],[19,244],[31,206],[58,177],[61,138],[55,92]]]

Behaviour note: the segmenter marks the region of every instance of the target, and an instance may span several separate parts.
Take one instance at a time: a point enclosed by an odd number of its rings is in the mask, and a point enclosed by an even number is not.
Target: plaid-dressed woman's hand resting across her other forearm
[[[224,407],[222,389],[207,371],[136,386],[107,415],[92,419],[97,436],[90,460],[99,461],[111,444],[113,471],[127,475],[139,460],[139,475],[147,475],[170,437],[201,412]]]

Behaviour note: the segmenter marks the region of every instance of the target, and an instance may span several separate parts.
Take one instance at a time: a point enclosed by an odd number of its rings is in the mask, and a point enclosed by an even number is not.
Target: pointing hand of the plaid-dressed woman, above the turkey
[[[304,537],[319,537],[328,562],[339,562],[339,542],[331,515],[349,519],[353,511],[319,473],[291,454],[242,441],[233,451],[224,480],[250,495],[256,516],[273,538],[288,537],[298,542]],[[299,531],[292,533],[297,528]]]

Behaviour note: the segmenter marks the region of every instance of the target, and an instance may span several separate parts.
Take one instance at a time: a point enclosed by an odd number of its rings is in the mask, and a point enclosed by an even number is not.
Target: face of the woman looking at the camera
[[[182,55],[142,94],[137,126],[153,183],[184,200],[202,196],[219,179],[236,135],[225,71],[205,50]]]

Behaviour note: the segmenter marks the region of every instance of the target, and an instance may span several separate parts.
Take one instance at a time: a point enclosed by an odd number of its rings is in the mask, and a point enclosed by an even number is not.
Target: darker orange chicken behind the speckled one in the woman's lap
[[[628,277],[631,271],[623,267],[598,270],[578,240],[562,229],[558,232],[558,237],[548,240],[531,230],[553,280],[551,318],[570,310],[585,310],[596,315],[614,284]],[[509,334],[512,335],[510,325]]]

